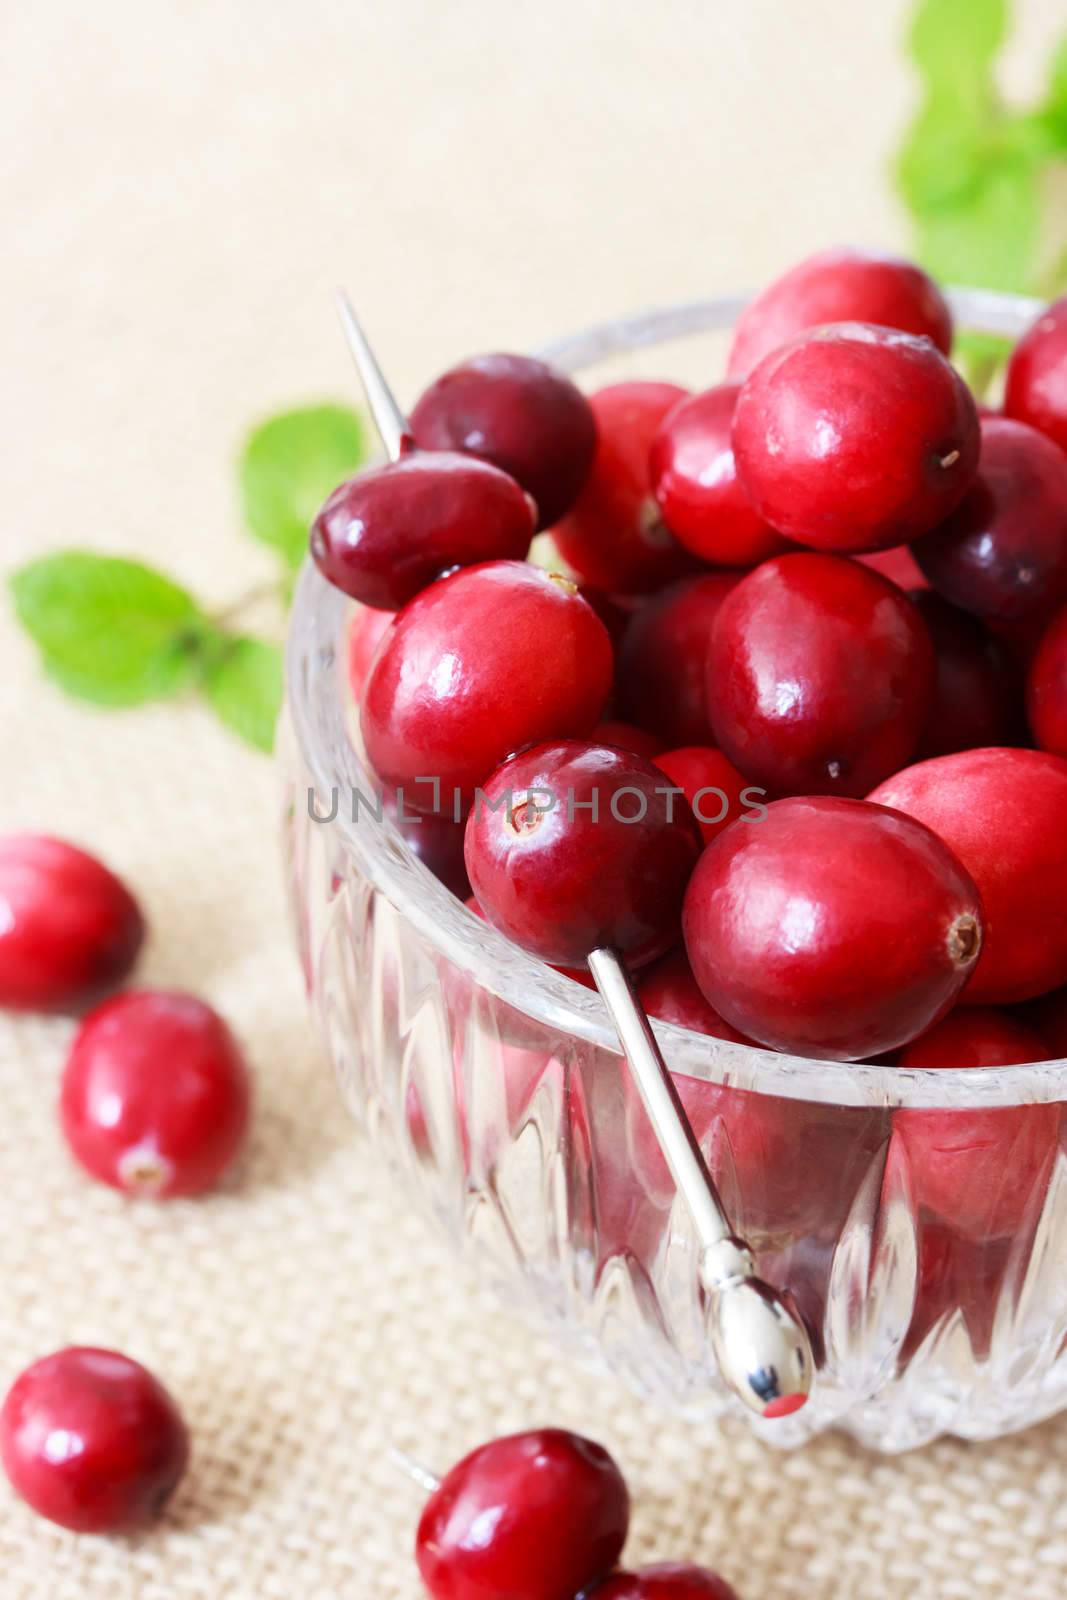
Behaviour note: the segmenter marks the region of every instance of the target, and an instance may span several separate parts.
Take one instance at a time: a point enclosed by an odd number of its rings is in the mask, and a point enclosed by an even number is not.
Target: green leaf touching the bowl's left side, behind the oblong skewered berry
[[[296,570],[315,512],[365,458],[363,424],[346,406],[304,406],[269,418],[246,440],[238,464],[248,526]]]

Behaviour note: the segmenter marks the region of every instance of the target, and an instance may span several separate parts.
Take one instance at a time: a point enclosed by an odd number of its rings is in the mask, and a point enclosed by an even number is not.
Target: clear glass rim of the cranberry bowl
[[[726,330],[745,299],[729,294],[637,312],[568,334],[536,354],[577,373],[611,355]],[[1006,336],[1017,336],[1043,309],[1041,301],[984,290],[949,291],[949,302],[966,328]],[[525,1016],[617,1056],[600,995],[520,950],[467,910],[366,803],[371,778],[352,741],[346,707],[350,611],[352,602],[306,560],[286,645],[286,710],[310,786],[302,795],[298,789],[291,803],[307,806],[312,827],[334,832],[360,872],[438,955]],[[330,818],[334,795],[336,816]],[[342,806],[341,795],[355,803]],[[656,1021],[654,1029],[672,1072],[787,1099],[952,1110],[1067,1099],[1067,1059],[965,1072],[867,1066],[776,1054],[672,1022]]]

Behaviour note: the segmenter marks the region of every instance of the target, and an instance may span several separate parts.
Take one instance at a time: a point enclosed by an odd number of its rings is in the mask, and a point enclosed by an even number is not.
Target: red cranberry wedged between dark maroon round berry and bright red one
[[[597,454],[585,488],[552,530],[563,560],[609,594],[648,594],[696,562],[667,533],[653,499],[648,456],[677,384],[613,384],[592,395]]]

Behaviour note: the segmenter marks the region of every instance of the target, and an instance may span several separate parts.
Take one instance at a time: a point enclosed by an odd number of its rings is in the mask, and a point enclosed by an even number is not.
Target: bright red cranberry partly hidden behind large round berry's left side
[[[649,470],[662,518],[686,550],[723,566],[755,566],[785,549],[737,483],[729,424],[739,384],[680,400],[653,440]]]

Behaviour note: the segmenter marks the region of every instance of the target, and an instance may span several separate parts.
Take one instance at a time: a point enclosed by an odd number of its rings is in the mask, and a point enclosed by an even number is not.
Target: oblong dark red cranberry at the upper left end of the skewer
[[[530,499],[499,467],[419,451],[341,483],[312,523],[315,565],[362,605],[398,611],[453,566],[522,562]]]

